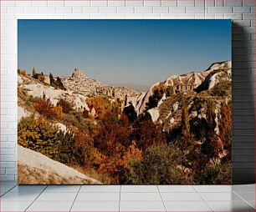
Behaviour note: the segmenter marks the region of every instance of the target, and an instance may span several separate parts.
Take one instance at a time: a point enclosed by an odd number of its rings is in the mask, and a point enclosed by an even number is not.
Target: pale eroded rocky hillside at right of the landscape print
[[[137,116],[149,117],[161,124],[165,132],[172,131],[182,122],[182,108],[186,107],[190,120],[207,122],[207,109],[214,105],[215,133],[223,103],[231,103],[231,61],[212,63],[202,72],[172,76],[155,83],[141,96],[132,99]],[[154,106],[152,106],[153,103]],[[196,122],[194,122],[196,123]],[[198,126],[200,127],[200,126]]]

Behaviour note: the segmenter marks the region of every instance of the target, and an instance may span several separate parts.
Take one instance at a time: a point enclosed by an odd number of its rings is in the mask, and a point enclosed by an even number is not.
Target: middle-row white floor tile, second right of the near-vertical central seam
[[[197,193],[161,193],[163,201],[203,201]]]

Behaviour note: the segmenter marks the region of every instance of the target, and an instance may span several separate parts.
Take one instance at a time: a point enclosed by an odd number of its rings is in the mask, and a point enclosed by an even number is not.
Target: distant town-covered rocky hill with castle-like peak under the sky
[[[87,77],[83,71],[75,68],[71,77],[61,78],[66,88],[72,89],[84,96],[109,96],[110,98],[125,98],[134,96],[136,91],[126,87],[115,87]]]

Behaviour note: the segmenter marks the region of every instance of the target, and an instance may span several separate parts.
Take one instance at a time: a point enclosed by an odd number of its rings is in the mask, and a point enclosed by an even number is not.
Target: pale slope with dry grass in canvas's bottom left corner
[[[26,176],[26,178],[23,178]],[[18,184],[100,184],[79,171],[18,145]]]

